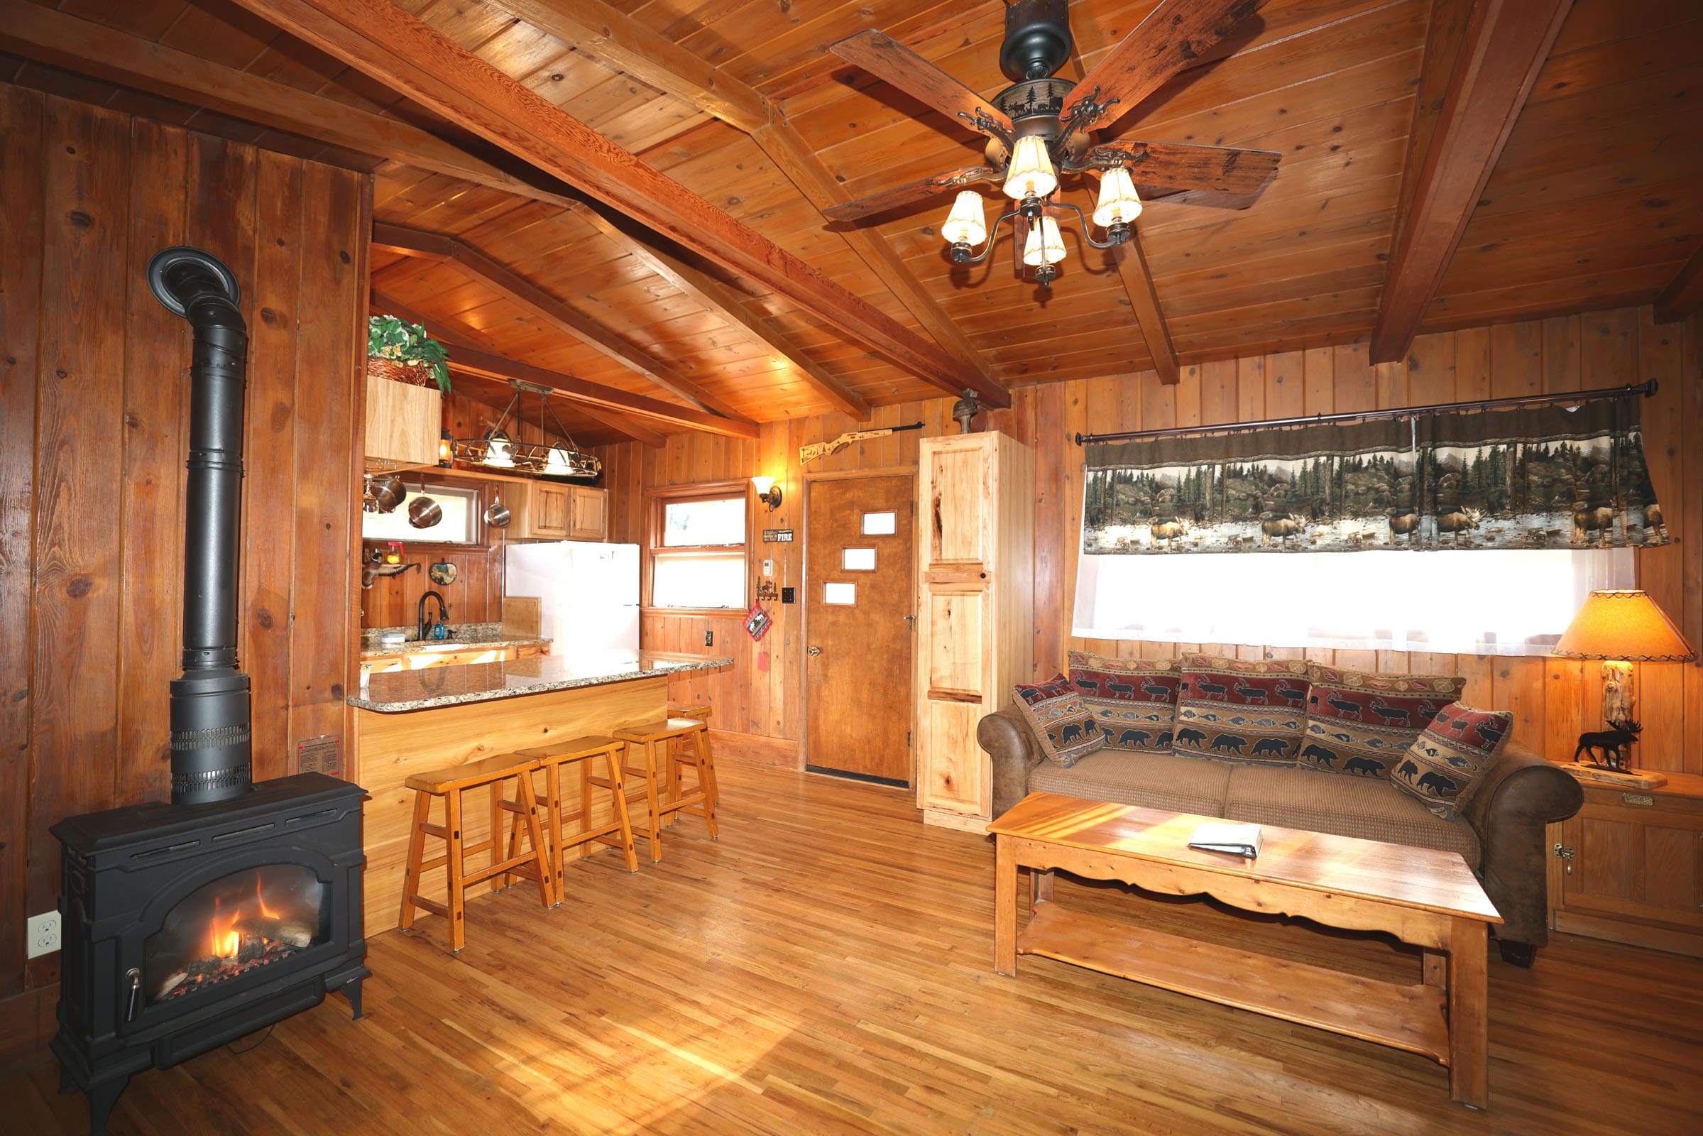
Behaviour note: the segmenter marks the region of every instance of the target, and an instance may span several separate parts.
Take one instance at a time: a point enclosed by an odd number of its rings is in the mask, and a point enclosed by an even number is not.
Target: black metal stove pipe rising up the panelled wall
[[[148,290],[189,320],[189,480],[184,496],[184,673],[172,680],[172,804],[252,785],[249,676],[237,664],[237,536],[249,330],[242,290],[199,249],[162,249]]]

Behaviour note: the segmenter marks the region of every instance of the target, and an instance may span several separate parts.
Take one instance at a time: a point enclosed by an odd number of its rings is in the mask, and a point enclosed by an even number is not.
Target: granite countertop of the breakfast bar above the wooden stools
[[[358,710],[404,714],[463,702],[542,695],[550,690],[603,686],[674,671],[714,671],[732,666],[725,656],[668,651],[611,651],[594,657],[543,656],[509,663],[468,663],[419,671],[368,674],[366,686],[347,698]]]

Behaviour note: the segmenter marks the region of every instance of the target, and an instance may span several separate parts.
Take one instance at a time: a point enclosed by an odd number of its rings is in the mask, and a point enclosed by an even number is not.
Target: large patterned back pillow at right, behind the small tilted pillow
[[[1313,663],[1299,765],[1327,773],[1390,778],[1390,768],[1461,697],[1453,674],[1368,674]]]

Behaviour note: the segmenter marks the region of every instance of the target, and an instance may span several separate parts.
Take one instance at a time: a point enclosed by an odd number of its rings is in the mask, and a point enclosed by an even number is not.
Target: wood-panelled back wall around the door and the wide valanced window
[[[1669,530],[1667,548],[1638,552],[1640,582],[1703,645],[1703,380],[1698,373],[1700,320],[1655,325],[1650,308],[1621,308],[1575,317],[1504,324],[1422,336],[1403,363],[1371,366],[1364,344],[1252,356],[1184,368],[1165,387],[1151,371],[1095,380],[1022,387],[1010,410],[989,417],[993,429],[1032,445],[1035,485],[1035,673],[1051,676],[1071,647],[1124,656],[1170,656],[1175,644],[1076,640],[1069,615],[1076,586],[1081,525],[1081,448],[1078,431],[1150,429],[1202,422],[1236,422],[1294,414],[1425,405],[1524,392],[1563,392],[1660,380],[1660,393],[1643,404],[1650,467]],[[923,421],[925,429],[897,434],[812,463],[811,470],[915,468],[920,434],[954,433],[947,399],[880,407],[879,424]],[[642,499],[649,485],[765,473],[778,479],[785,502],[765,526],[794,526],[802,540],[799,446],[833,438],[857,422],[828,414],[765,424],[756,443],[676,434],[662,450],[635,443],[603,453],[610,485],[613,540],[642,542]],[[760,508],[760,506],[758,506]],[[802,545],[770,545],[797,584]],[[1259,559],[1250,559],[1259,571]],[[800,620],[797,606],[768,605],[775,625],[753,645],[737,618],[708,620],[741,647],[729,676],[708,680],[698,695],[715,702],[719,729],[795,741],[800,737]],[[647,645],[702,651],[705,620],[649,613]],[[1211,644],[1202,644],[1211,645]],[[1257,647],[1211,645],[1257,656]],[[1296,654],[1296,652],[1289,652]],[[1597,664],[1494,656],[1425,656],[1405,652],[1315,652],[1344,666],[1383,671],[1436,671],[1468,676],[1466,698],[1509,709],[1521,739],[1551,756],[1568,756],[1580,729],[1597,719]],[[700,680],[702,681],[702,680]],[[678,695],[676,695],[678,697]],[[1654,768],[1703,772],[1703,669],[1654,664],[1640,669],[1643,739],[1638,761]],[[770,748],[768,751],[773,751]]]

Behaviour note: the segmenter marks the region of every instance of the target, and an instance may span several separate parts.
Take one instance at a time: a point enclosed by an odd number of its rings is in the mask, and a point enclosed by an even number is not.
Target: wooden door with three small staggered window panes
[[[806,514],[806,768],[911,782],[915,480],[816,480]]]

